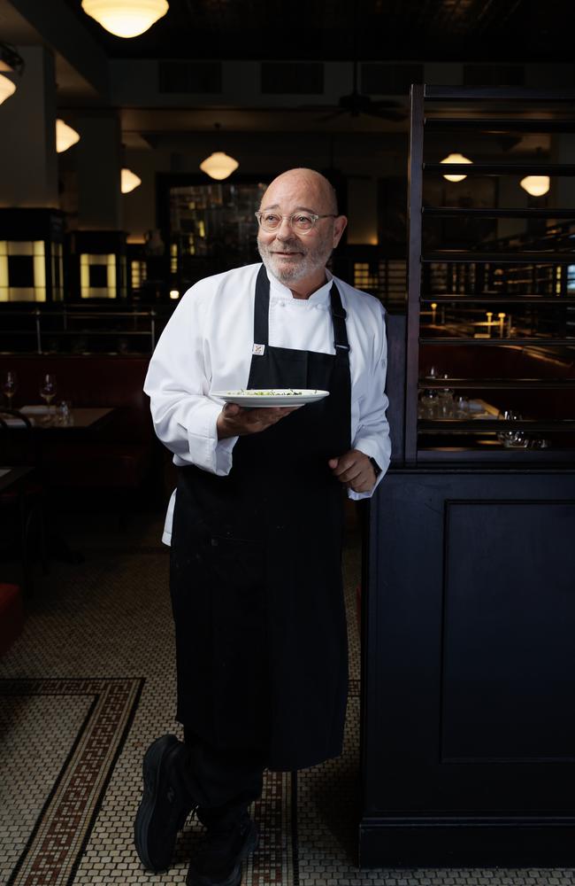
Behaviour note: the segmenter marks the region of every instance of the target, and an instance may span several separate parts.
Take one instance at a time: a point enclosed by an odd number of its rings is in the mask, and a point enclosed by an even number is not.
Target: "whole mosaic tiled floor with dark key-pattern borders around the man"
[[[127,532],[117,532],[115,523],[103,516],[71,519],[64,527],[66,537],[86,560],[78,565],[54,563],[50,575],[37,580],[25,632],[0,663],[4,690],[12,687],[10,696],[0,698],[1,883],[185,882],[187,859],[199,838],[194,821],[180,836],[174,866],[165,874],[145,872],[132,843],[143,752],[157,735],[179,734],[173,721],[168,557],[159,543],[160,525],[157,517],[142,516]],[[358,571],[357,546],[350,546],[345,559],[350,605]],[[261,845],[244,866],[245,886],[575,886],[575,871],[563,869],[357,869],[355,618],[349,618],[349,641],[344,753],[299,774],[294,808],[289,775],[272,773],[267,778],[265,794],[255,809]],[[89,748],[95,698],[114,686],[124,688],[125,698],[108,718],[106,741],[92,749],[98,766],[73,772],[74,752],[84,744]],[[19,694],[14,687],[20,688]],[[61,691],[54,691],[58,688]],[[46,861],[41,837],[46,835],[47,822],[58,823],[54,804],[65,801],[63,791],[70,783],[89,797],[88,812],[77,821],[73,838],[58,836],[61,853]],[[56,846],[52,842],[52,852]]]

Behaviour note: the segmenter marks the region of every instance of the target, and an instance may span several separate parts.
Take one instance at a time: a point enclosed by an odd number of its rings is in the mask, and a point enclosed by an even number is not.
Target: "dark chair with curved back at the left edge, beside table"
[[[31,564],[40,555],[48,572],[44,487],[38,478],[36,435],[32,422],[16,409],[0,410],[0,464],[35,469],[30,478],[0,493],[0,543],[5,550],[19,548],[23,589],[32,593]]]

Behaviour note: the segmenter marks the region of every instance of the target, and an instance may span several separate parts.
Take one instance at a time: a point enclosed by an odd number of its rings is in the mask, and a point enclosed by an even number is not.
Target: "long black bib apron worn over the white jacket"
[[[335,354],[268,344],[270,284],[257,276],[249,388],[330,392],[240,437],[218,477],[179,469],[170,587],[177,719],[270,769],[341,753],[348,650],[341,581],[345,486],[327,461],[350,448],[345,311],[330,292]],[[261,353],[263,351],[263,353]]]

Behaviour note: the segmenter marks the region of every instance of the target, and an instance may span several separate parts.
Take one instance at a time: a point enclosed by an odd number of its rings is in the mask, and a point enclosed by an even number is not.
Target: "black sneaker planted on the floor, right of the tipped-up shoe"
[[[257,828],[248,812],[208,828],[203,847],[188,868],[188,886],[240,886],[242,861],[257,847]]]

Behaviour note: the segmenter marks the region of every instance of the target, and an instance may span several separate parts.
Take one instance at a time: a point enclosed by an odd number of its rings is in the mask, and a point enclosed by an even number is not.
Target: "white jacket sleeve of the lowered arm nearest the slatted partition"
[[[387,372],[385,310],[379,303],[377,314],[377,332],[373,338],[372,348],[366,354],[364,373],[357,383],[359,417],[352,447],[374,458],[381,468],[381,473],[371,492],[356,493],[349,489],[349,498],[354,501],[372,496],[389,467],[391,456],[389,424],[386,417],[389,400],[385,393]]]

